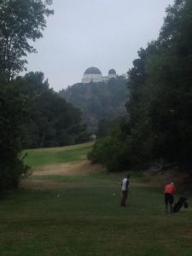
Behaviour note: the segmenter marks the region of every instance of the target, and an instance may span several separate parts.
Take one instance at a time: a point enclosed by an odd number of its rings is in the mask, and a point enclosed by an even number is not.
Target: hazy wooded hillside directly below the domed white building
[[[82,110],[83,121],[91,132],[96,131],[100,119],[115,119],[125,115],[127,85],[124,77],[108,83],[73,84],[59,95]]]

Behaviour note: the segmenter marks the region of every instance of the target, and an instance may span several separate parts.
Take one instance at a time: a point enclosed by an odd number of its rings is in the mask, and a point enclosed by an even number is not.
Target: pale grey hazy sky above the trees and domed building
[[[42,71],[58,91],[81,82],[88,67],[126,73],[137,50],[158,37],[173,0],[54,0],[44,38],[27,72]]]

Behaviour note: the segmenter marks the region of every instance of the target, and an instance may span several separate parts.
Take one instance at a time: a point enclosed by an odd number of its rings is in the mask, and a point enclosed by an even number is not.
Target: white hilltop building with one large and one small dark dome
[[[108,76],[103,77],[102,72],[97,67],[89,67],[84,71],[84,76],[82,79],[83,84],[90,82],[99,83],[99,82],[108,82],[109,79],[116,79],[117,74],[114,69],[108,71]]]

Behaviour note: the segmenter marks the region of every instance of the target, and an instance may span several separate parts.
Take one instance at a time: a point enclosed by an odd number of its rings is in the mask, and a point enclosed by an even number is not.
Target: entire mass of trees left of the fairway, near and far
[[[0,191],[17,188],[28,166],[22,149],[82,143],[81,113],[26,69],[29,44],[42,37],[50,0],[0,0]]]

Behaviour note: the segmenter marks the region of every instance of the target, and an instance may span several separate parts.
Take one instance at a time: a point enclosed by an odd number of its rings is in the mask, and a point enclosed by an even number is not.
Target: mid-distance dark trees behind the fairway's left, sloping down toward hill
[[[23,148],[45,148],[88,141],[81,112],[49,89],[43,73],[27,73],[17,78],[30,105],[30,117],[23,124]]]

